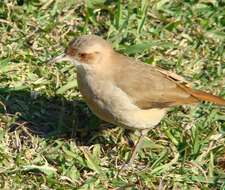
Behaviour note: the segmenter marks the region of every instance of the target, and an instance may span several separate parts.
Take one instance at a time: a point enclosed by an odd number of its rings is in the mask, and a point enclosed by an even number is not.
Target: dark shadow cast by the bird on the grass
[[[104,138],[99,139],[104,129],[100,124],[104,123],[82,100],[68,101],[62,96],[46,97],[25,90],[0,88],[0,101],[5,105],[5,109],[1,107],[1,115],[14,118],[6,124],[10,132],[23,126],[43,138],[73,138],[78,145],[107,143]]]

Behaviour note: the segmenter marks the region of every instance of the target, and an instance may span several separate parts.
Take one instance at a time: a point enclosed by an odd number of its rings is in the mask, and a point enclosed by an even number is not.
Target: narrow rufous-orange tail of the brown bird
[[[225,106],[225,99],[220,98],[218,96],[209,94],[207,92],[203,92],[201,90],[193,90],[191,89],[189,93],[200,101],[212,102],[214,104]]]

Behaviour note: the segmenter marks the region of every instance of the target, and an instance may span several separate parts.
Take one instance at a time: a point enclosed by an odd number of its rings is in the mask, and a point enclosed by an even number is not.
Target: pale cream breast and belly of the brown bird
[[[157,125],[165,115],[162,109],[139,109],[112,82],[86,72],[78,70],[78,87],[88,107],[100,119],[126,128],[146,129]]]

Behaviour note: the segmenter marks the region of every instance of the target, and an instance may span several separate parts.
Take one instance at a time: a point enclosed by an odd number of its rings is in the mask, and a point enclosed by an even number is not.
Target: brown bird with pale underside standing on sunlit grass
[[[201,101],[225,106],[223,98],[191,88],[176,73],[115,51],[100,36],[76,37],[50,63],[60,61],[75,65],[79,91],[97,117],[140,132],[126,163],[128,168],[147,133],[160,123],[170,107]]]

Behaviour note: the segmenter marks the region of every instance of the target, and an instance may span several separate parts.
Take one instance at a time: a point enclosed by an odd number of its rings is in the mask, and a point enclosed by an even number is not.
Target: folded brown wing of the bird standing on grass
[[[199,101],[182,77],[116,54],[114,80],[142,109],[163,108]],[[190,89],[191,90],[191,89]]]

